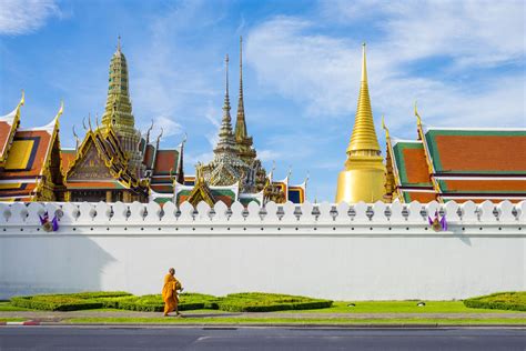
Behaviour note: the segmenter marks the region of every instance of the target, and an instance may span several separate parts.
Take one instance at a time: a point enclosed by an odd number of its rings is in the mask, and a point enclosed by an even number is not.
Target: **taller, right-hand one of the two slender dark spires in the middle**
[[[255,150],[252,148],[253,141],[246,131],[245,108],[243,103],[243,37],[240,37],[240,99],[237,102],[237,119],[235,121],[235,142],[240,158],[247,164],[252,164],[255,159]]]

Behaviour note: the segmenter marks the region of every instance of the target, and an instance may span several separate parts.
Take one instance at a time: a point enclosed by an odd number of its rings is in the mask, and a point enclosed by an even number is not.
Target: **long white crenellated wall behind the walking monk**
[[[435,232],[427,213],[446,213]],[[44,232],[38,214],[60,217]],[[276,205],[0,203],[0,299],[188,291],[337,300],[462,299],[526,290],[526,202]]]

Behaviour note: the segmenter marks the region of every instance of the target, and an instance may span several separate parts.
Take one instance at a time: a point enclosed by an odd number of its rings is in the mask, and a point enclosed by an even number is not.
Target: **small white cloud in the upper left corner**
[[[19,36],[33,32],[60,10],[54,0],[2,0],[0,34]]]

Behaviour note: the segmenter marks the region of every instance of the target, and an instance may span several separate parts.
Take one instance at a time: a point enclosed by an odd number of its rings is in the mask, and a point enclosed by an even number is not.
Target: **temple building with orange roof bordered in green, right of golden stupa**
[[[417,140],[390,134],[386,195],[402,202],[526,200],[526,129],[434,128],[415,106]]]

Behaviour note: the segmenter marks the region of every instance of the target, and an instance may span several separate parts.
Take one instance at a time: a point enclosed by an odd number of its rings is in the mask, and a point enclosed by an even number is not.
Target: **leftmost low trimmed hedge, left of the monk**
[[[47,310],[47,311],[77,311],[101,309],[104,307],[101,298],[130,295],[128,292],[79,292],[69,294],[44,294],[32,297],[14,297],[11,303],[16,307]]]

